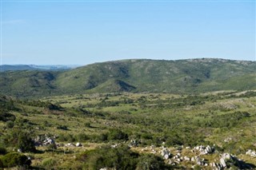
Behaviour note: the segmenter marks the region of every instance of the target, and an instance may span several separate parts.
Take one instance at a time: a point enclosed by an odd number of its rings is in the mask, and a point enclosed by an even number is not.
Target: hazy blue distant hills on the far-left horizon
[[[0,65],[0,72],[16,70],[64,70],[73,69],[76,65]]]

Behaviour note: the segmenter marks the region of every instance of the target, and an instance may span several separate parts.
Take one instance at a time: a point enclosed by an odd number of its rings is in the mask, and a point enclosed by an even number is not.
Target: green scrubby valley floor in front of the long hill
[[[168,165],[169,160],[162,160],[159,154],[160,147],[164,145],[175,153],[174,149],[182,145],[193,148],[207,144],[215,145],[218,152],[229,152],[256,164],[245,154],[249,149],[256,150],[255,91],[198,95],[95,93],[34,101],[6,96],[1,99],[0,104],[5,105],[2,114],[9,115],[0,121],[1,154],[5,156],[13,149],[32,154],[34,168],[187,168],[194,164],[185,161]],[[42,144],[49,137],[56,144]],[[75,147],[76,143],[83,147]],[[150,152],[152,145],[156,153]],[[186,149],[183,152],[187,156],[192,154]],[[209,164],[216,157],[214,153],[205,159]],[[3,160],[2,164],[10,166]]]

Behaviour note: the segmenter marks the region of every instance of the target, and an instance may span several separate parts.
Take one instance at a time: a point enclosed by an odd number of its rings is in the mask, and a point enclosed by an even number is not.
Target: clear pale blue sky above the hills
[[[2,0],[2,64],[255,61],[255,1]]]

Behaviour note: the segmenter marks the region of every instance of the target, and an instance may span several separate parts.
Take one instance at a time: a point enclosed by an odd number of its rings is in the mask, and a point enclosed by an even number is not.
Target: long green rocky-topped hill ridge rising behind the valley
[[[70,93],[205,93],[256,89],[256,62],[224,59],[123,60],[59,72],[2,73],[2,93],[28,97]]]

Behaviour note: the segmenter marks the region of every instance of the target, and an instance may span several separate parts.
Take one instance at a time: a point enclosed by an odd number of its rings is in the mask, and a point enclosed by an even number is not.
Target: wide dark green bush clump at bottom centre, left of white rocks
[[[77,160],[84,162],[86,169],[167,169],[162,158],[154,155],[140,156],[127,146],[96,148],[77,156]]]

